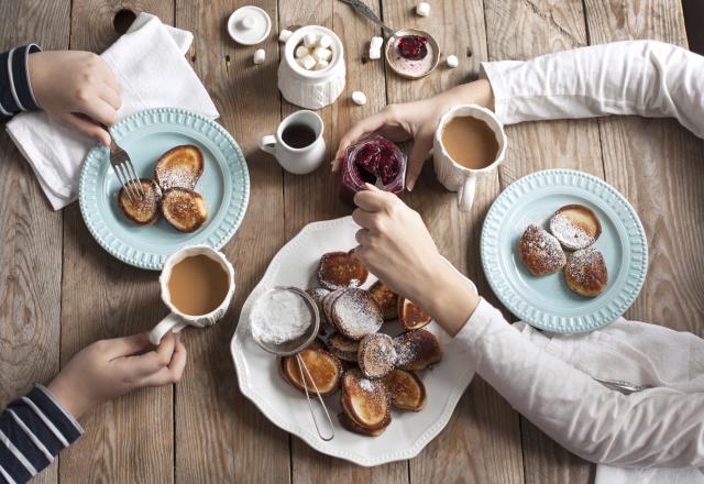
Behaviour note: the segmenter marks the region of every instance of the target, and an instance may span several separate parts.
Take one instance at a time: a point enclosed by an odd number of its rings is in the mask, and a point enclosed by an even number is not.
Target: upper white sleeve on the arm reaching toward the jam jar
[[[482,63],[497,117],[521,121],[639,114],[676,118],[704,138],[704,57],[657,41],[628,41]]]

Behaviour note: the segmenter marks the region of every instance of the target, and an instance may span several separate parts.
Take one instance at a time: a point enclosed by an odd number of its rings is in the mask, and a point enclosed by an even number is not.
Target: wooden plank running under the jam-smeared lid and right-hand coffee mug
[[[482,2],[468,0],[433,6],[433,12],[425,19],[413,13],[415,3],[385,3],[384,20],[395,28],[417,28],[436,36],[441,47],[441,64],[432,75],[415,81],[402,79],[387,68],[389,103],[421,99],[472,80],[477,76],[480,61],[486,58]],[[442,64],[450,54],[459,56],[459,68],[448,69]],[[496,195],[498,176],[487,177],[477,190],[473,211],[461,213],[457,195],[437,182],[432,162],[428,161],[416,188],[405,196],[405,201],[422,216],[440,252],[475,280],[480,292],[490,298],[476,262],[481,220]],[[410,461],[410,480],[418,483],[522,482],[517,415],[484,381],[474,378],[448,427]]]

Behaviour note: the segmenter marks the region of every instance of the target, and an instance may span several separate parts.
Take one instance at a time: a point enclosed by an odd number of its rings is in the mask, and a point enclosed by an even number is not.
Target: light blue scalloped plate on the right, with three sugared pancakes
[[[560,207],[590,207],[602,223],[594,246],[606,261],[608,286],[595,298],[569,289],[562,271],[531,275],[518,256],[526,227],[548,221]],[[547,169],[509,185],[484,220],[482,265],[492,289],[516,317],[556,333],[602,328],[622,316],[636,300],[648,271],[648,242],[638,215],[610,185],[582,172]]]

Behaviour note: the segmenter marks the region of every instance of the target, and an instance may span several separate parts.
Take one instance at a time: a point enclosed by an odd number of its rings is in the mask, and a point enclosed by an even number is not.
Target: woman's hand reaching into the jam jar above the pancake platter
[[[420,305],[450,334],[464,326],[480,301],[465,279],[440,255],[420,215],[398,197],[366,184],[354,196],[355,254],[392,290]]]

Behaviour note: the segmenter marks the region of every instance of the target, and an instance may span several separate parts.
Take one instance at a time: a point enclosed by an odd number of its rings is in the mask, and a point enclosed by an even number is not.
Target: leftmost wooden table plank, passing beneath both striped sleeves
[[[0,1],[0,52],[35,42],[68,47],[70,2]],[[57,21],[63,20],[63,21]],[[58,372],[62,212],[44,198],[30,165],[0,133],[0,408]],[[54,483],[58,463],[36,480]]]

